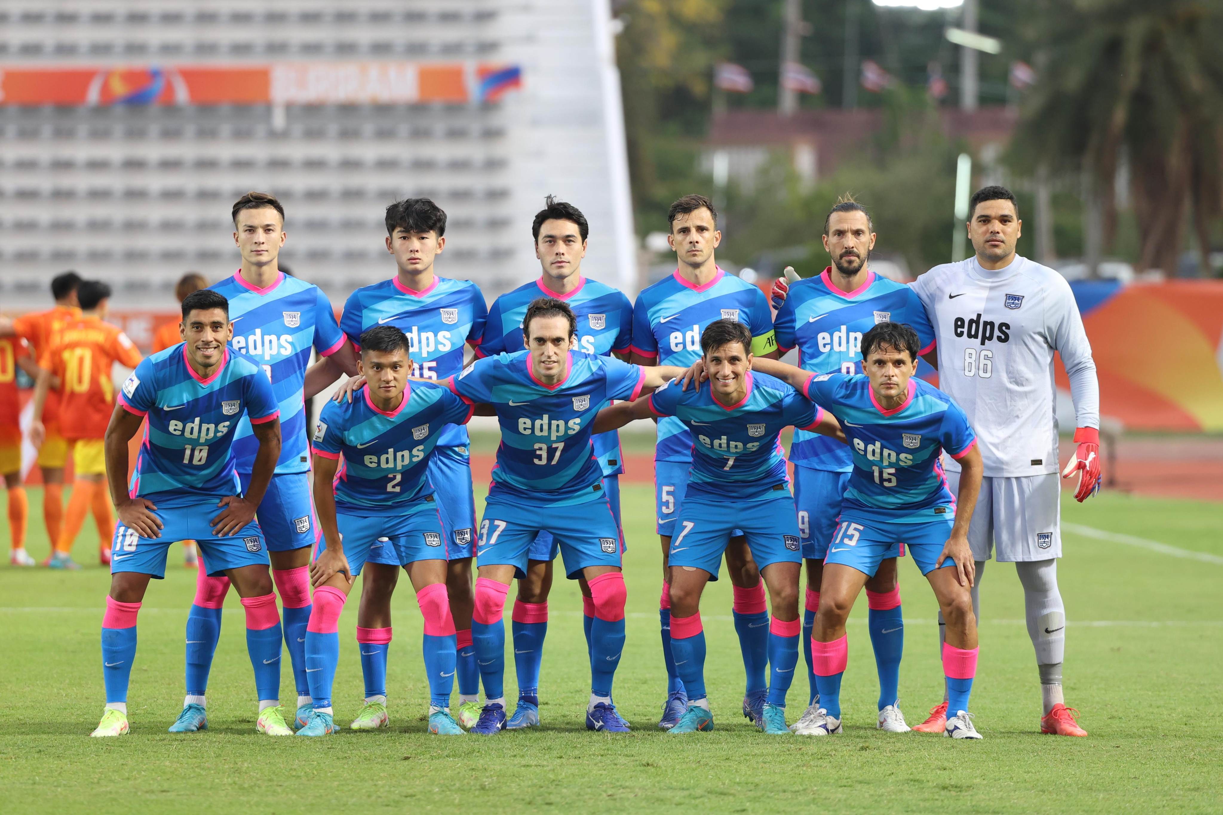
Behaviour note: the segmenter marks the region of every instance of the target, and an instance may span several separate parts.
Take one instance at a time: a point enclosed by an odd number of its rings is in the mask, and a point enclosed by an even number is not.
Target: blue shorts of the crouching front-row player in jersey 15
[[[945,510],[945,517],[917,523],[896,523],[843,512],[828,546],[824,566],[840,563],[874,577],[884,558],[896,557],[898,549],[904,555],[907,546],[917,568],[927,574],[943,554],[943,546],[955,523],[955,513],[950,507],[939,508]],[[943,568],[948,566],[955,566],[950,557],[943,561]]]

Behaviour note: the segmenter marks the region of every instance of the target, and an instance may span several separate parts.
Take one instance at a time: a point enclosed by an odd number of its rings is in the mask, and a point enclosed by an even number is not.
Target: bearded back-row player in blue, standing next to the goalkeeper
[[[874,227],[866,209],[852,198],[843,197],[824,219],[823,241],[832,265],[818,276],[796,281],[790,287],[774,318],[778,349],[785,353],[796,347],[799,365],[813,374],[859,373],[862,335],[876,324],[890,320],[911,325],[922,343],[921,353],[932,354],[934,331],[917,294],[867,266],[874,247]],[[807,711],[794,728],[810,734],[819,710],[811,661],[811,628],[819,607],[824,556],[837,529],[852,459],[845,445],[800,430],[794,434],[790,461],[795,466],[794,499],[807,566],[802,651],[810,685]],[[866,600],[879,674],[879,718],[876,723],[879,729],[904,733],[909,726],[896,696],[905,630],[895,555],[899,550],[884,558],[879,571],[866,582]]]

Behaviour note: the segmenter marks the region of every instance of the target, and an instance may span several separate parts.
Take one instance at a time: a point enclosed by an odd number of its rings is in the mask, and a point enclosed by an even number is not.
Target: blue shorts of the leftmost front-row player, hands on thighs
[[[204,558],[209,577],[220,577],[225,569],[243,566],[267,566],[268,549],[258,521],[252,521],[240,532],[220,538],[213,532],[212,519],[225,511],[218,499],[204,499],[202,503],[168,507],[157,505],[150,510],[161,521],[160,538],[141,538],[139,533],[124,524],[115,527],[111,540],[110,573],[138,572],[161,579],[165,577],[165,556],[170,544],[194,540]]]

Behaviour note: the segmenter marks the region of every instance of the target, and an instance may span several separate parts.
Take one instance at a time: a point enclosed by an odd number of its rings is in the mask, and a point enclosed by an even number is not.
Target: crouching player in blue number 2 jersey
[[[455,626],[446,599],[445,532],[428,468],[438,440],[466,424],[475,406],[435,381],[417,379],[408,386],[413,360],[408,338],[397,327],[377,325],[360,342],[366,385],[352,402],[328,402],[314,429],[314,505],[327,547],[311,568],[314,609],[306,633],[314,712],[297,734],[335,732],[336,623],[353,579],[375,555],[383,563],[394,560],[404,567],[424,617],[429,732],[464,736],[450,715]],[[385,673],[377,690],[385,699]],[[385,726],[385,704],[382,710]]]

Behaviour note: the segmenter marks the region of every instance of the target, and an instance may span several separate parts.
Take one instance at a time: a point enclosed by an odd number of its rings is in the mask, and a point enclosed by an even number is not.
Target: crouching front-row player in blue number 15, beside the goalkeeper
[[[812,374],[775,360],[753,369],[785,379],[840,422],[854,472],[824,558],[811,651],[819,692],[811,734],[841,731],[840,683],[848,649],[845,619],[859,591],[898,546],[907,545],[929,580],[947,622],[944,734],[981,738],[969,712],[977,667],[977,621],[970,590],[975,563],[969,522],[983,464],[964,411],[916,376],[921,340],[907,325],[879,323],[862,335],[866,374]],[[963,468],[953,496],[939,464],[947,451]]]

